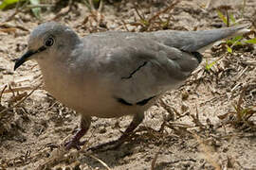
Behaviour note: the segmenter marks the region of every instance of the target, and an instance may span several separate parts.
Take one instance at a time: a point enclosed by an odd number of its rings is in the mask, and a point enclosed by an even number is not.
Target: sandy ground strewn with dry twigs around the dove
[[[204,61],[186,83],[165,93],[147,111],[131,140],[115,150],[89,152],[86,148],[117,139],[131,117],[94,117],[83,137],[88,144],[80,151],[65,152],[62,144],[78,128],[79,114],[65,108],[43,87],[23,100],[40,84],[40,69],[36,62],[28,61],[14,72],[13,59],[26,51],[29,32],[40,23],[56,20],[81,36],[106,30],[200,30],[225,26],[216,12],[216,8],[224,7],[222,1],[208,4],[182,0],[155,17],[150,26],[142,25],[135,7],[148,20],[174,1],[137,0],[137,6],[132,2],[105,4],[101,14],[74,2],[71,10],[61,15],[68,7],[59,4],[58,10],[44,10],[41,20],[29,11],[13,17],[9,16],[15,9],[0,11],[0,92],[4,92],[0,103],[0,169],[256,169],[253,45],[234,46],[231,54],[225,44],[207,50]],[[246,20],[242,23],[250,23],[255,29],[255,0],[225,3],[236,21]],[[206,71],[206,64],[217,59]],[[18,92],[12,93],[11,89]]]

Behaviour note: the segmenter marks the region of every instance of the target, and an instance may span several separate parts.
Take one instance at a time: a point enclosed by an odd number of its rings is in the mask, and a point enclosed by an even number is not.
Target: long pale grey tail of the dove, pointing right
[[[155,40],[187,52],[202,52],[212,43],[249,32],[250,25],[198,31],[156,31]]]

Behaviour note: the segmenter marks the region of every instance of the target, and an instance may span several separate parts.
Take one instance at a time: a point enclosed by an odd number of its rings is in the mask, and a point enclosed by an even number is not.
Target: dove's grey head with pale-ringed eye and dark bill
[[[27,52],[16,60],[14,70],[29,59],[39,61],[65,56],[78,43],[80,43],[80,38],[67,26],[55,22],[37,26],[28,38]]]

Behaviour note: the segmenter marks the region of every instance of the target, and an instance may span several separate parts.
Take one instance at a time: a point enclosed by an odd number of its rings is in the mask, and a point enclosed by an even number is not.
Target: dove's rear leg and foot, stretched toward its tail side
[[[134,129],[137,128],[137,126],[143,121],[144,119],[144,112],[140,112],[137,113],[132,122],[130,123],[129,127],[126,128],[126,130],[122,133],[122,135],[119,137],[118,140],[115,141],[111,141],[109,143],[105,143],[105,144],[100,144],[94,147],[90,147],[89,150],[102,150],[102,147],[105,147],[107,145],[112,145],[110,146],[110,148],[106,148],[106,149],[115,149],[117,147],[119,147],[120,144],[123,144],[127,139],[129,139],[129,136],[132,134],[132,132],[134,131]],[[103,149],[105,150],[105,149]]]

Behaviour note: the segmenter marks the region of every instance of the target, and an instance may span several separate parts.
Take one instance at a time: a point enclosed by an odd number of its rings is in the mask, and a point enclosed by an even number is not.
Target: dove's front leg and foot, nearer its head
[[[78,150],[81,149],[81,145],[85,144],[85,141],[80,142],[82,136],[88,131],[91,125],[91,117],[82,116],[80,129],[76,132],[76,134],[71,138],[70,141],[64,144],[65,149],[69,150],[70,148],[76,148]]]

